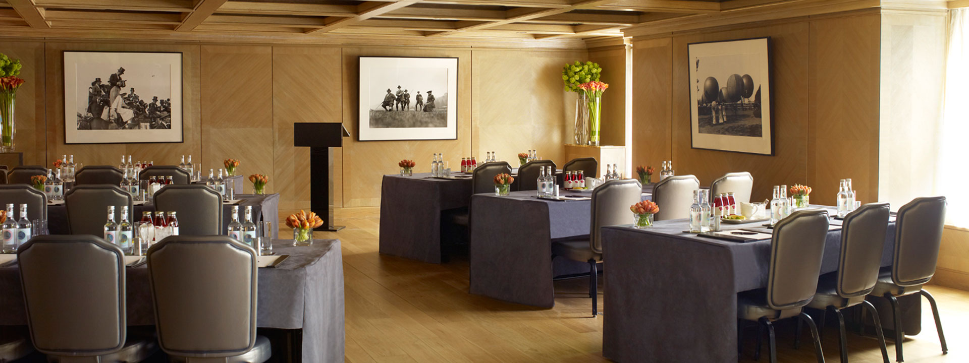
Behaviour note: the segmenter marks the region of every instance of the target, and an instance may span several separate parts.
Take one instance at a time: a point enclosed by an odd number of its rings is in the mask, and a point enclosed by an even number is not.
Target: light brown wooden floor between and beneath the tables
[[[583,292],[587,280],[557,282],[554,309],[472,295],[468,293],[466,257],[438,265],[381,256],[377,252],[378,208],[337,209],[335,216],[336,224],[346,229],[317,232],[316,238],[342,241],[347,362],[606,361],[602,356],[603,318],[589,317],[591,303]],[[969,362],[969,292],[927,289],[938,300],[951,350],[941,354],[931,311],[925,304],[922,334],[906,339],[905,361]],[[599,306],[603,306],[601,300]],[[828,324],[823,347],[828,362],[837,362],[837,330],[831,326]],[[753,361],[753,335],[747,334],[741,361]],[[810,341],[795,350],[792,336],[790,330],[778,329],[778,360],[815,362]],[[889,350],[893,360],[891,341]],[[849,352],[854,363],[882,361],[876,340],[853,333],[849,333]],[[651,362],[649,357],[642,361]],[[762,361],[766,362],[766,356]]]

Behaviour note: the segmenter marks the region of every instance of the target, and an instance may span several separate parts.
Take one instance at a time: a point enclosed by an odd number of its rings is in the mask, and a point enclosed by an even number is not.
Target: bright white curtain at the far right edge
[[[946,223],[969,227],[969,9],[950,13],[945,108],[935,194],[946,196]]]

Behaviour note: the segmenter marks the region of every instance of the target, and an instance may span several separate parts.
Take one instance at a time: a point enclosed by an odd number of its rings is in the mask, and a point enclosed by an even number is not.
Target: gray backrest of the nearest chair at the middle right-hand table
[[[634,179],[610,180],[592,191],[589,247],[603,253],[602,227],[626,225],[633,222],[629,206],[642,200],[642,184]]]

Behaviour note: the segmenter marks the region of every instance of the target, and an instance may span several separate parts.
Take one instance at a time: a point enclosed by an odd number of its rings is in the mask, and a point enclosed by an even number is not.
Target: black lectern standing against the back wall
[[[341,123],[293,124],[294,146],[309,147],[309,209],[323,219],[323,226],[318,230],[336,231],[344,228],[333,226],[333,156],[329,154],[330,147],[343,146],[344,136],[350,136],[350,133]],[[324,193],[323,189],[327,192]]]

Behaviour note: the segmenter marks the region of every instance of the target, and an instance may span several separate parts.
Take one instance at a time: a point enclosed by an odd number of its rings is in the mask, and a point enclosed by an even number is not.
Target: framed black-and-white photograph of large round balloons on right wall
[[[773,155],[770,38],[687,45],[693,148]]]

